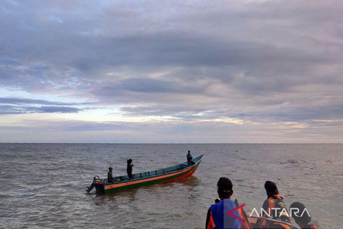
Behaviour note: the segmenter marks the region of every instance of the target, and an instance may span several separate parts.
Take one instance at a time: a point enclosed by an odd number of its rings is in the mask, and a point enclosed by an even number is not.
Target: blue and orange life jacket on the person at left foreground
[[[236,204],[230,199],[224,199],[219,203],[211,205],[211,217],[208,228],[231,228],[240,229],[242,221],[226,214],[228,210],[236,208]],[[238,209],[230,212],[239,218],[242,218],[243,212],[241,213]]]

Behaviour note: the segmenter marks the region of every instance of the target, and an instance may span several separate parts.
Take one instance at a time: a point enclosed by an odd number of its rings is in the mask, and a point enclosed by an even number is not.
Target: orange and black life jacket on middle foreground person
[[[280,209],[277,209],[275,214],[275,209],[272,208]],[[270,216],[268,217],[267,214],[264,213],[263,217],[281,220],[284,222],[291,222],[291,217],[289,217],[289,213],[285,203],[283,202],[283,198],[279,195],[271,195],[268,197],[268,208],[266,212],[270,213]]]

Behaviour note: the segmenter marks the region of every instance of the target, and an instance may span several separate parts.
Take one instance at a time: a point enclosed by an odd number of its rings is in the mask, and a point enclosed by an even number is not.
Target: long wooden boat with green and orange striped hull
[[[110,193],[143,185],[177,181],[192,175],[197,170],[203,156],[204,154],[193,158],[195,163],[193,165],[188,165],[186,161],[164,169],[132,174],[133,179],[129,179],[127,175],[116,176],[113,178],[115,183],[108,183],[107,179],[94,177],[93,184],[95,184],[96,193]]]

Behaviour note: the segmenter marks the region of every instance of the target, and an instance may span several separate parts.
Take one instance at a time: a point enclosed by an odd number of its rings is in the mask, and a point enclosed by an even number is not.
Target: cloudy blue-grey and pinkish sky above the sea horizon
[[[339,0],[2,0],[0,142],[343,143]]]

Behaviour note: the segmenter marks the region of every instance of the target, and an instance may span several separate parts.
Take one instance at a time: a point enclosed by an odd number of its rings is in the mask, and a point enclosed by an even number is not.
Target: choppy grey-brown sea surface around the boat
[[[206,153],[193,176],[107,195],[105,178],[169,167]],[[287,207],[305,204],[320,228],[343,222],[343,144],[0,144],[0,228],[204,228],[226,176],[245,210],[260,209],[264,182]]]

